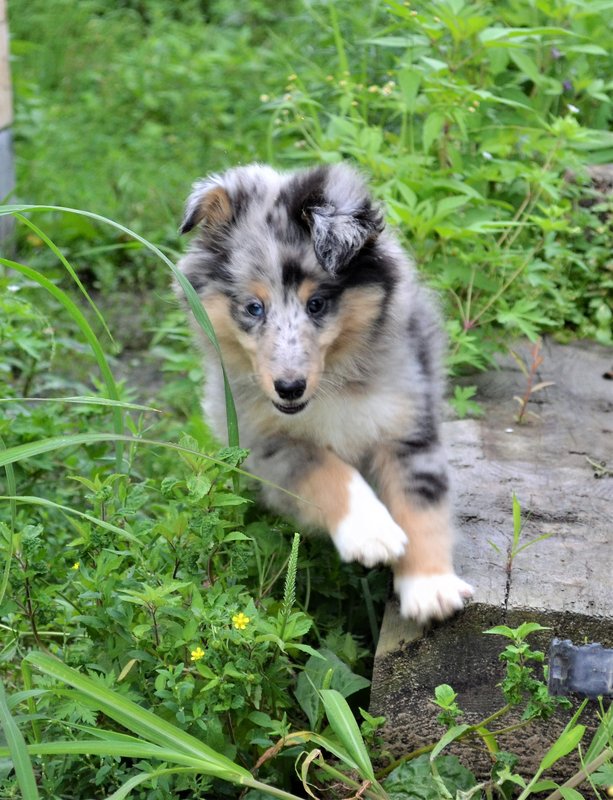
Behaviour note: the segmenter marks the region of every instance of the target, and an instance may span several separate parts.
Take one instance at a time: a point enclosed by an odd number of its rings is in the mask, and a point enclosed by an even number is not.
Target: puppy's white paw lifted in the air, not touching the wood
[[[367,567],[397,561],[407,546],[405,532],[357,473],[349,483],[349,510],[332,533],[343,561]]]

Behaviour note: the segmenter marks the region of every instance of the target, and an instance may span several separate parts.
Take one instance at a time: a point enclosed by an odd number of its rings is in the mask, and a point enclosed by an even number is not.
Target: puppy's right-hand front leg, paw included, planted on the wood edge
[[[381,497],[409,544],[394,564],[400,612],[419,623],[444,619],[473,594],[453,569],[447,462],[436,438],[395,442],[374,460]]]

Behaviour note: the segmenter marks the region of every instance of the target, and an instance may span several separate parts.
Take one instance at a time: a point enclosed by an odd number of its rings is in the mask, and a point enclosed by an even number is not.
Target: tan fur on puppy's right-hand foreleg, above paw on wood
[[[386,450],[377,453],[381,499],[409,537],[404,555],[394,565],[397,575],[441,575],[453,572],[453,528],[447,503],[411,502],[400,486],[398,465]]]

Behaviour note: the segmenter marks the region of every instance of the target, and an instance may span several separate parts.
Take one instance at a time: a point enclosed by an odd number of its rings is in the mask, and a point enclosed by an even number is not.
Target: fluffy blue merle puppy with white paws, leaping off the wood
[[[392,565],[401,613],[462,608],[440,441],[436,305],[345,164],[230,169],[197,181],[179,268],[217,334],[249,467],[267,504],[323,528],[344,561]],[[225,435],[210,343],[204,410]],[[297,497],[296,497],[297,496]],[[300,499],[298,499],[300,498]]]

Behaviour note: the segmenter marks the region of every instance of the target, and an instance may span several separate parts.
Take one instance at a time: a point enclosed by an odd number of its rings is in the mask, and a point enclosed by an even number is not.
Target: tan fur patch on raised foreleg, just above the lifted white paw
[[[300,517],[309,525],[335,530],[349,513],[350,466],[329,450],[296,487],[296,494],[308,501],[300,504]]]

